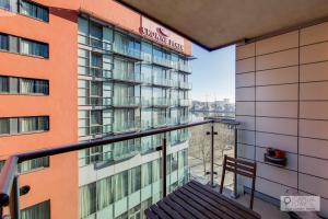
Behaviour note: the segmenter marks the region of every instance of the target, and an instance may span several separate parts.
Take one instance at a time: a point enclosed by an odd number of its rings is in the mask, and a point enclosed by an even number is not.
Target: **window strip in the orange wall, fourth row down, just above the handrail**
[[[0,136],[49,130],[48,116],[0,118]]]

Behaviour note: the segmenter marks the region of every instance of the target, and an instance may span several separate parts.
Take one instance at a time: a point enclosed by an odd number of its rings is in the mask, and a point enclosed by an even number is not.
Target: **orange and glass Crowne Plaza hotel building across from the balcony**
[[[1,0],[0,13],[2,161],[188,123],[191,44],[181,36],[110,0]],[[23,162],[20,183],[33,193],[22,218],[142,218],[161,197],[162,139]],[[187,180],[188,130],[166,139],[172,191]]]

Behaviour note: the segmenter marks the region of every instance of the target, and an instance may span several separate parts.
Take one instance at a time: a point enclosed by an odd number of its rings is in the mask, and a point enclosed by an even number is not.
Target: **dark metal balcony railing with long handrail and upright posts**
[[[0,218],[3,218],[3,208],[9,207],[9,214],[11,219],[20,219],[20,195],[24,195],[22,193],[22,189],[24,187],[19,187],[19,172],[17,166],[20,163],[24,161],[28,161],[36,158],[43,158],[43,157],[49,157],[49,155],[56,155],[56,154],[62,154],[73,151],[79,151],[82,149],[90,149],[97,146],[108,145],[108,143],[115,143],[115,142],[121,142],[125,140],[131,140],[136,138],[142,138],[148,136],[154,136],[159,134],[168,134],[169,131],[190,128],[195,126],[211,125],[211,131],[208,131],[207,134],[211,136],[211,143],[210,143],[210,150],[211,150],[211,163],[210,163],[210,185],[214,184],[213,174],[214,173],[214,135],[216,132],[214,131],[214,124],[227,124],[229,126],[236,127],[238,123],[234,120],[225,120],[225,119],[208,119],[197,123],[189,123],[185,125],[177,125],[172,127],[164,127],[164,128],[157,128],[157,129],[151,129],[140,132],[131,132],[126,135],[118,135],[118,136],[112,136],[112,137],[105,137],[102,139],[95,139],[92,141],[86,142],[80,142],[74,145],[68,145],[51,149],[43,149],[38,151],[32,151],[32,152],[23,152],[23,153],[16,153],[11,157],[9,157],[3,165],[3,169],[0,173]],[[237,136],[237,129],[235,128],[235,137]],[[235,141],[236,145],[237,141]],[[166,158],[167,155],[167,140],[166,135],[163,135],[162,139],[162,146],[157,147],[156,150],[162,151],[162,157]],[[236,153],[236,150],[235,150]],[[235,154],[236,155],[236,154]],[[161,159],[162,162],[162,192],[163,196],[167,195],[167,185],[166,185],[166,162],[167,159]],[[236,180],[234,181],[235,187],[236,187]],[[30,188],[28,188],[30,189]],[[236,189],[235,189],[236,191]],[[25,193],[26,194],[26,193]]]

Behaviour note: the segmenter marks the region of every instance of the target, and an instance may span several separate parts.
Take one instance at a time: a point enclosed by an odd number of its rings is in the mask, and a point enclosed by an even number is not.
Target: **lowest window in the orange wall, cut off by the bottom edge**
[[[21,210],[21,219],[50,219],[50,200]]]

